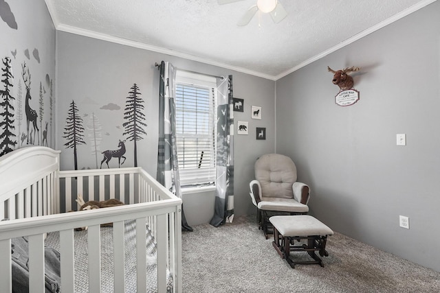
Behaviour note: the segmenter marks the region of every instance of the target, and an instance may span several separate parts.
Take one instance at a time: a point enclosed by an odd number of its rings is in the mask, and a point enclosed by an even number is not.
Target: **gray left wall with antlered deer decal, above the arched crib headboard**
[[[2,1],[3,2],[3,1]],[[9,9],[8,9],[9,8]],[[9,82],[10,94],[14,110],[14,132],[15,137],[9,137],[16,144],[14,148],[21,148],[28,145],[43,145],[43,131],[47,123],[47,132],[44,145],[54,147],[54,124],[56,113],[55,96],[55,27],[47,11],[45,1],[7,1],[1,5],[0,18],[0,58],[10,59],[12,78]],[[25,96],[26,89],[22,77],[22,66],[30,73],[30,108],[36,111],[38,131],[34,131],[30,123],[29,135],[26,129]],[[1,69],[4,69],[3,62],[0,62]],[[1,71],[3,73],[3,71]],[[3,77],[1,78],[3,79]],[[51,84],[53,91],[51,92]],[[3,82],[0,84],[5,89]],[[52,95],[51,95],[52,94]],[[41,95],[41,98],[40,98]],[[41,102],[40,103],[40,99]],[[3,97],[1,97],[3,102]],[[10,109],[9,109],[10,110]],[[4,108],[0,107],[0,121],[4,121]],[[31,135],[32,130],[32,135]],[[4,128],[0,129],[0,145],[3,139]],[[35,135],[35,132],[38,134]],[[32,137],[21,140],[22,137]],[[0,154],[4,148],[0,147]]]

